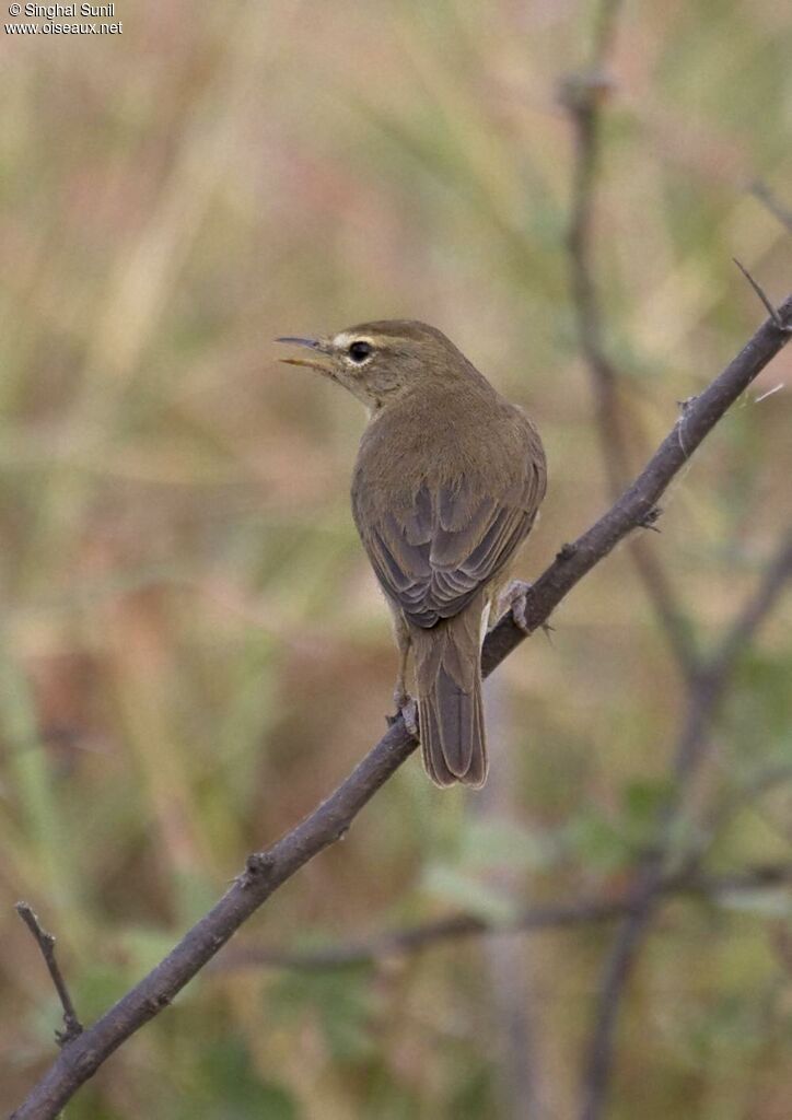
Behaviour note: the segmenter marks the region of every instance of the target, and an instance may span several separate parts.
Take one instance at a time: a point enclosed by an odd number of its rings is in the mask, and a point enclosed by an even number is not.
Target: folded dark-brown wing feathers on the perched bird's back
[[[464,610],[530,530],[542,489],[533,465],[497,497],[476,497],[464,479],[423,485],[404,516],[362,528],[376,577],[408,622],[427,628]]]

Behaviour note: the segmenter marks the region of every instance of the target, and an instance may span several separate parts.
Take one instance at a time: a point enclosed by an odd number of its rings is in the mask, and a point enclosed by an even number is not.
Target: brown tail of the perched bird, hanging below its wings
[[[478,609],[476,609],[478,606]],[[413,634],[421,749],[437,785],[484,785],[481,605]]]

